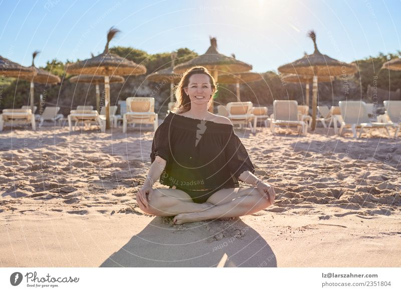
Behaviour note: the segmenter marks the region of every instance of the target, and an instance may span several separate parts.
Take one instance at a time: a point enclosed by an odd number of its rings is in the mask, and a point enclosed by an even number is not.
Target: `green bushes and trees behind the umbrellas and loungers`
[[[147,74],[171,66],[170,52],[148,54],[145,51],[131,47],[114,47],[110,51],[137,64],[142,64],[147,69]],[[175,65],[186,62],[197,56],[193,51],[182,48],[175,51],[177,58]],[[366,90],[368,85],[374,86],[373,80],[377,81],[377,87],[395,91],[401,88],[401,72],[380,70],[382,64],[387,58],[393,59],[399,56],[401,52],[390,54],[388,56],[379,53],[376,57],[369,57],[355,61],[359,72],[348,78],[349,88],[348,97],[351,99],[366,99]],[[95,104],[94,85],[72,84],[68,82],[71,77],[65,75],[65,66],[68,62],[62,62],[53,59],[47,62],[43,68],[62,78],[62,84],[49,85],[45,87],[41,84],[35,85],[35,101],[39,103],[40,94],[46,94],[46,102],[58,104],[62,107],[62,112],[68,113],[71,108],[78,104]],[[125,100],[129,96],[149,96],[155,92],[157,83],[145,81],[146,75],[132,76],[126,78],[124,84],[111,85],[111,103],[116,104],[117,100]],[[377,76],[377,79],[376,79]],[[275,72],[263,73],[264,80],[241,85],[241,100],[252,101],[255,104],[271,104],[274,99],[290,98],[302,103],[305,95],[305,85],[283,84]],[[29,82],[5,78],[2,80],[2,99],[0,100],[0,109],[18,108],[28,104]],[[102,86],[101,86],[102,90]],[[219,84],[219,93],[215,96],[215,102],[224,104],[230,101],[236,101],[236,89],[234,84]],[[156,109],[164,103],[169,96],[169,86],[165,85],[161,89],[157,88]],[[332,83],[319,83],[319,103],[336,103],[344,99],[344,81],[337,78]],[[64,110],[63,110],[64,108]]]

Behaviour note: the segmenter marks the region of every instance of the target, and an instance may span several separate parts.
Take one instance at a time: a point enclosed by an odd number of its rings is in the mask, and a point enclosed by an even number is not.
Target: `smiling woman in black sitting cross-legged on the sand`
[[[204,67],[185,72],[176,90],[175,113],[157,128],[151,166],[136,194],[140,209],[175,215],[182,224],[252,214],[274,203],[274,188],[257,178],[231,121],[208,112],[216,82]],[[152,189],[160,183],[170,188]],[[239,187],[238,179],[254,185]]]

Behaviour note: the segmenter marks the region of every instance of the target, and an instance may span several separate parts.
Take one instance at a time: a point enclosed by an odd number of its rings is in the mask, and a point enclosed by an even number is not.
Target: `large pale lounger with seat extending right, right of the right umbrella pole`
[[[340,128],[341,135],[342,130],[344,128],[349,128],[352,130],[353,137],[357,137],[357,129],[359,130],[359,138],[362,135],[364,129],[385,129],[387,131],[388,136],[390,133],[388,132],[387,127],[388,123],[379,123],[379,122],[370,122],[369,117],[367,115],[366,104],[363,101],[340,101],[339,103],[341,110],[342,123]]]

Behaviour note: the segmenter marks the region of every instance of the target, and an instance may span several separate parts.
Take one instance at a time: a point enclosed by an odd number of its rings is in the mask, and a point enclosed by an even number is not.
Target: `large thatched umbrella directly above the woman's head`
[[[188,62],[175,66],[174,72],[178,74],[183,73],[193,66],[203,66],[207,68],[216,81],[218,81],[219,74],[246,72],[252,70],[251,65],[238,61],[235,58],[220,54],[217,51],[216,38],[210,38],[210,47],[204,55],[200,55]],[[213,99],[209,110],[212,110],[213,112]]]

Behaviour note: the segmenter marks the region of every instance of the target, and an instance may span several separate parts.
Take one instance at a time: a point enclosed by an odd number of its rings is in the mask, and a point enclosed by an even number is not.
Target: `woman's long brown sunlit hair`
[[[202,66],[195,66],[187,71],[182,75],[180,82],[178,83],[177,88],[175,89],[175,96],[177,98],[177,106],[173,110],[175,113],[185,113],[191,109],[191,101],[189,96],[186,95],[184,88],[188,87],[189,78],[194,74],[205,74],[209,76],[210,85],[212,86],[212,97],[217,91],[217,84],[213,76],[209,73],[208,69]]]

